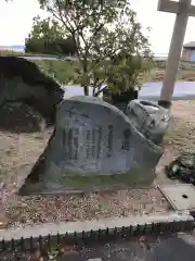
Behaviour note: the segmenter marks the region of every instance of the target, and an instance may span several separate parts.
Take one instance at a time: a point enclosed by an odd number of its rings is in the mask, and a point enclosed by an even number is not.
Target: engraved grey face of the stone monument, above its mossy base
[[[150,160],[153,149],[158,153]],[[145,162],[154,166],[161,152],[116,108],[96,98],[74,97],[63,101],[57,112],[47,163],[66,175],[120,174]]]

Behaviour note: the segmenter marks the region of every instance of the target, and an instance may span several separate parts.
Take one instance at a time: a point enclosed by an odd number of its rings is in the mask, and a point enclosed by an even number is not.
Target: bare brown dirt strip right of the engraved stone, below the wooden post
[[[195,101],[174,101],[171,126],[164,139],[165,153],[156,167],[156,184],[172,183],[165,175],[165,165],[185,148],[195,148]]]

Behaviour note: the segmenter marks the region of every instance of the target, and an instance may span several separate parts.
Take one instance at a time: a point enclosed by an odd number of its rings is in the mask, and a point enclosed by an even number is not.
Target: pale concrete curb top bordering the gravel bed
[[[41,225],[27,226],[27,227],[18,227],[18,228],[6,228],[0,229],[0,240],[10,241],[12,239],[20,240],[21,238],[39,238],[46,237],[48,235],[56,236],[56,235],[65,235],[65,234],[74,234],[74,233],[88,233],[93,231],[99,232],[105,229],[114,229],[121,227],[138,227],[144,225],[170,225],[173,223],[182,222],[183,225],[187,223],[187,227],[194,226],[194,219],[190,214],[185,213],[170,213],[170,214],[161,214],[161,215],[142,215],[142,216],[129,216],[129,217],[114,217],[114,219],[102,219],[94,221],[77,221],[77,222],[58,222],[58,223],[46,223]]]

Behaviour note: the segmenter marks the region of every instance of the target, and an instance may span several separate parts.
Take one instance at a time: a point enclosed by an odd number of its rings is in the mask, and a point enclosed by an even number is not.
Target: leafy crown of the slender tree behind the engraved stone
[[[84,95],[91,84],[103,83],[122,91],[138,84],[138,75],[151,59],[147,38],[129,1],[104,1],[100,5],[80,0],[39,0],[41,8],[68,32],[76,46]],[[109,61],[108,65],[105,61]]]

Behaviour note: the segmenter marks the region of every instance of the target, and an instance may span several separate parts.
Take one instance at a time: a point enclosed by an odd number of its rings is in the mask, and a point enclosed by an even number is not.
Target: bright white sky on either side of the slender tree
[[[195,5],[195,0],[192,2]],[[153,52],[166,54],[169,51],[176,15],[157,11],[157,3],[158,0],[131,0],[132,9],[136,11],[143,28],[152,28],[150,41]],[[9,3],[0,0],[0,46],[24,45],[36,15],[47,16],[37,0],[13,0]],[[194,28],[195,17],[190,17],[185,42],[195,41]]]

